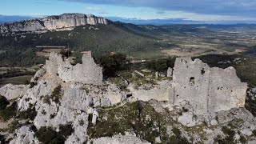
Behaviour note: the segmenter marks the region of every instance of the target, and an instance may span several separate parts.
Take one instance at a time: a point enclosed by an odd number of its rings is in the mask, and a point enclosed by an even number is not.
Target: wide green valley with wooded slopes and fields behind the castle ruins
[[[136,61],[208,54],[244,57],[255,53],[254,30],[254,25],[137,26],[110,22],[42,34],[16,32],[0,36],[0,66],[29,68],[44,64],[50,52],[67,48],[74,61],[81,58],[80,52],[88,50],[92,50],[96,62],[110,52],[126,54]],[[3,73],[5,70],[1,69],[0,74]]]

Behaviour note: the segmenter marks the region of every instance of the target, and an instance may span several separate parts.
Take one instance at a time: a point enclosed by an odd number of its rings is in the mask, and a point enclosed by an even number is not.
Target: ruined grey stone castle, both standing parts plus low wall
[[[102,85],[102,67],[97,66],[90,52],[82,56],[82,64],[75,66],[69,58],[51,53],[46,71],[63,82]],[[199,59],[176,58],[173,82],[163,82],[152,90],[131,90],[131,93],[139,100],[167,100],[173,107],[189,102],[194,114],[214,115],[218,111],[244,107],[246,90],[247,83],[240,81],[233,67],[211,68]]]

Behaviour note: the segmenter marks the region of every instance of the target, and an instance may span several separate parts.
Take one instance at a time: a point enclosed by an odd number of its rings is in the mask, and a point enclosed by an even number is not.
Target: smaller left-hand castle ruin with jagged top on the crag
[[[82,56],[82,64],[70,64],[69,58],[61,54],[50,53],[46,61],[46,71],[52,76],[59,76],[63,82],[81,82],[83,84],[102,85],[102,67],[97,66],[91,52]]]

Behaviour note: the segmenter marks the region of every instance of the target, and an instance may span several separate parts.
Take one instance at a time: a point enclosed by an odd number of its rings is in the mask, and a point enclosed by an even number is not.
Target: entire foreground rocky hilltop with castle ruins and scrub
[[[247,84],[233,67],[177,58],[166,75],[132,70],[130,78],[147,82],[103,81],[90,52],[75,66],[52,53],[30,86],[0,88],[0,114],[13,115],[0,136],[15,144],[256,142]]]

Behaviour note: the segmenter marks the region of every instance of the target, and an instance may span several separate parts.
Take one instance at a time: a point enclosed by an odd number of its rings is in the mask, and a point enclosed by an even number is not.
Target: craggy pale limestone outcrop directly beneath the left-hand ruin
[[[122,92],[113,85],[95,86],[76,81],[64,82],[62,74],[59,76],[53,74],[46,67],[43,66],[35,74],[35,77],[38,78],[32,79],[32,82],[38,79],[37,84],[18,99],[18,110],[24,111],[30,109],[30,106],[34,106],[37,115],[33,124],[37,129],[42,126],[50,126],[54,130],[58,130],[58,126],[71,122],[74,133],[66,139],[66,143],[85,142],[89,114],[94,114],[92,122],[96,122],[98,112],[95,107],[112,106],[122,102]],[[86,75],[84,77],[87,78]],[[53,93],[58,86],[61,88],[58,92],[58,101],[56,101]],[[28,132],[29,138],[30,134]],[[16,139],[20,142],[19,139],[22,138],[23,135]],[[25,140],[22,139],[22,141]]]

